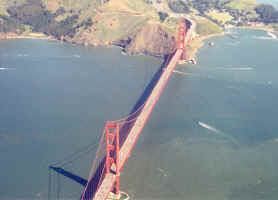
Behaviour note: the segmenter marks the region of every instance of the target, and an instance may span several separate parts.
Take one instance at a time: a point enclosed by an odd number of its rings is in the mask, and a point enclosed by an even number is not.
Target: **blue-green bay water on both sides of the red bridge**
[[[235,32],[171,77],[121,175],[132,199],[277,199],[278,41]],[[161,63],[116,48],[0,41],[9,68],[0,70],[0,198],[46,197],[47,166],[96,143]],[[86,177],[93,153],[68,169]],[[61,180],[61,196],[78,199],[81,187]]]

